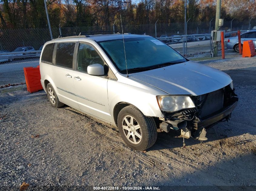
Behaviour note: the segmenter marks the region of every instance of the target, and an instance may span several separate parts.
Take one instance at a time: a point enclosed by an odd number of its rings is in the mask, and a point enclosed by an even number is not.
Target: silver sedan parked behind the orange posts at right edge
[[[256,30],[249,30],[241,34],[241,44],[246,40],[253,40],[256,49]],[[230,37],[228,39],[227,48],[234,49],[235,52],[239,53],[238,36]]]

